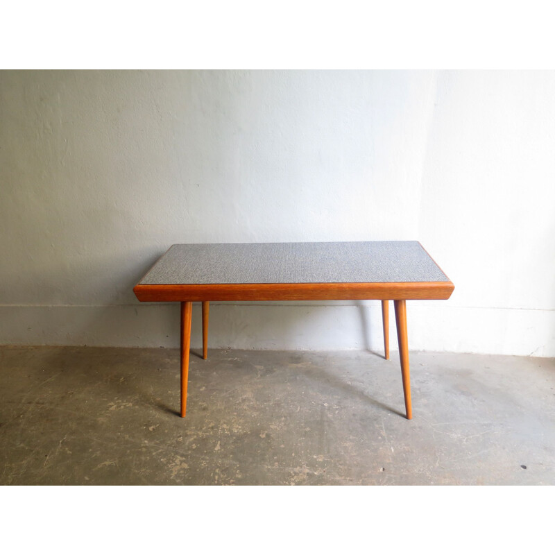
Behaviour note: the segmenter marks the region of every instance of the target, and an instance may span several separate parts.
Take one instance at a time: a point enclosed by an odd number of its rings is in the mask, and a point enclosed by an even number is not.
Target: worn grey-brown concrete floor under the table
[[[555,484],[555,359],[1,347],[0,484]]]

